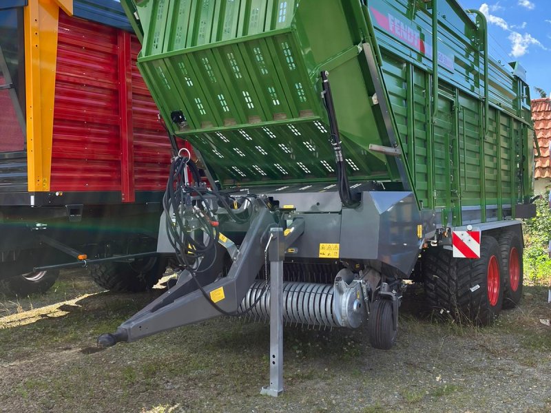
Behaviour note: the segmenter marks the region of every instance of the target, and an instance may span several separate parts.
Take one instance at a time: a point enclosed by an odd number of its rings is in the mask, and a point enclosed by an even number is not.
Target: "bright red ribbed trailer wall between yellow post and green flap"
[[[61,13],[52,191],[121,191],[132,202],[165,186],[170,145],[130,37]]]

